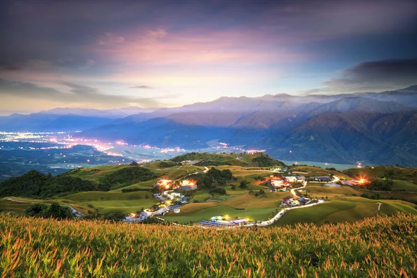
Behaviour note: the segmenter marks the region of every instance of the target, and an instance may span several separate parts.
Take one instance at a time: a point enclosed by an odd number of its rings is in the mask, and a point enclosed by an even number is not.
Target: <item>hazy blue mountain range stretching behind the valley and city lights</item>
[[[157,110],[59,108],[0,117],[3,131],[47,129],[186,149],[218,139],[291,161],[416,166],[417,85],[379,93],[221,97]]]

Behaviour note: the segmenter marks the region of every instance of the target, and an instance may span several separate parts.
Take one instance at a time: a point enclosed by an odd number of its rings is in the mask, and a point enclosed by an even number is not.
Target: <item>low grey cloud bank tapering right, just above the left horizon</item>
[[[28,98],[28,102],[33,101],[33,99],[48,99],[65,103],[88,103],[94,106],[122,107],[137,104],[143,108],[161,107],[161,104],[156,98],[104,95],[97,88],[70,82],[60,84],[67,86],[70,92],[63,92],[62,90],[36,85],[34,83],[0,79],[0,96],[26,97]]]

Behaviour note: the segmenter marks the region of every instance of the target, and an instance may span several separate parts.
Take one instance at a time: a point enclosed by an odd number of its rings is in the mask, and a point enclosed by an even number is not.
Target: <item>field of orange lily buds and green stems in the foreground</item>
[[[417,216],[200,229],[0,214],[0,277],[417,277]]]

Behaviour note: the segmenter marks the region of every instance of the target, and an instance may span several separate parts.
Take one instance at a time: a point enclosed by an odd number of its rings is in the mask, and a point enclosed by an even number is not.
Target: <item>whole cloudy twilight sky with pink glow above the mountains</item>
[[[417,1],[1,1],[0,111],[417,84]]]

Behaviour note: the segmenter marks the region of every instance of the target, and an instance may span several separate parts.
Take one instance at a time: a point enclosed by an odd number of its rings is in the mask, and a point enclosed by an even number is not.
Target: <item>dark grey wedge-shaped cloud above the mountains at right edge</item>
[[[417,84],[417,58],[359,63],[322,83],[311,93],[365,92],[405,88]]]

